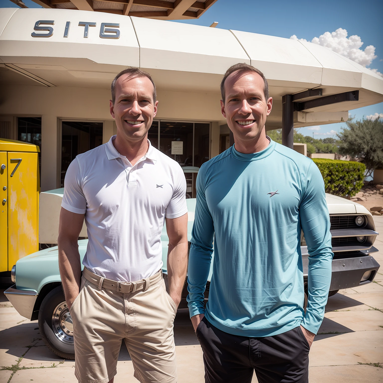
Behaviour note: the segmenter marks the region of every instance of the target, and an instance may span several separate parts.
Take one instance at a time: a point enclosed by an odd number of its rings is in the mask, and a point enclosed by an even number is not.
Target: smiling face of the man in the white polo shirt
[[[116,120],[117,135],[128,141],[144,139],[157,114],[153,101],[154,87],[147,77],[119,77],[115,84],[115,103],[110,100],[110,114]]]

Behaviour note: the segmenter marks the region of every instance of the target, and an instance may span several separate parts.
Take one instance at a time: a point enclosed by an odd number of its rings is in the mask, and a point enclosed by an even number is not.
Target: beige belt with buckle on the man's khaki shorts
[[[149,286],[154,285],[154,283],[159,282],[162,279],[162,270],[158,273],[155,273],[149,278],[144,278],[138,282],[117,282],[108,278],[100,277],[95,273],[92,273],[86,267],[82,272],[82,276],[87,279],[93,285],[98,286],[99,290],[101,288],[106,288],[108,290],[117,291],[118,293],[134,293],[136,291],[146,291]]]

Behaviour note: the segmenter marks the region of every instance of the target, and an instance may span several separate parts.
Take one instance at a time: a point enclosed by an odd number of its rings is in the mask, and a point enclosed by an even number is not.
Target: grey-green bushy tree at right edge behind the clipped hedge
[[[360,121],[349,119],[347,128],[337,134],[339,153],[357,157],[366,165],[367,176],[383,167],[383,120],[372,121],[363,117]]]

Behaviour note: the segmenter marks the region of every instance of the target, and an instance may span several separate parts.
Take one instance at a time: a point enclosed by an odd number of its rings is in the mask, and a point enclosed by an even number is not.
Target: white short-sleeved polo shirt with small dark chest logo
[[[109,142],[79,154],[65,175],[61,206],[85,213],[88,247],[83,265],[116,281],[134,282],[162,267],[166,218],[187,213],[180,165],[149,149],[132,166]]]

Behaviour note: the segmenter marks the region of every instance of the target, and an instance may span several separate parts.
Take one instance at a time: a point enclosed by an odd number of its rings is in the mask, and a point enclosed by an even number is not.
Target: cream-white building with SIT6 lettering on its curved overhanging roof
[[[41,190],[62,187],[75,155],[116,133],[111,81],[140,67],[152,75],[159,100],[149,139],[182,166],[198,168],[230,144],[219,84],[238,62],[268,79],[267,130],[282,128],[285,95],[358,91],[355,99],[296,108],[294,127],[345,121],[349,110],[383,101],[381,77],[312,43],[111,13],[3,8],[0,136],[39,144]]]

